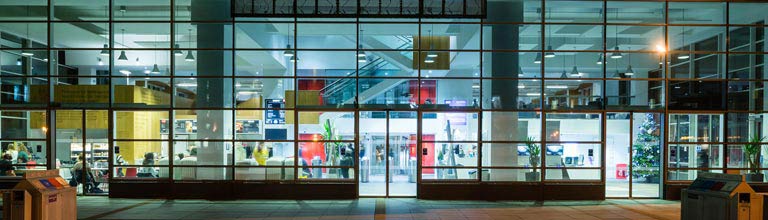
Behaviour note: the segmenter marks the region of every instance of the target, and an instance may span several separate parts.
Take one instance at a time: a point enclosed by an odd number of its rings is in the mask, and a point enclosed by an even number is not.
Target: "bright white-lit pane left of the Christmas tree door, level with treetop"
[[[547,113],[547,141],[600,141],[601,115],[595,113]]]

